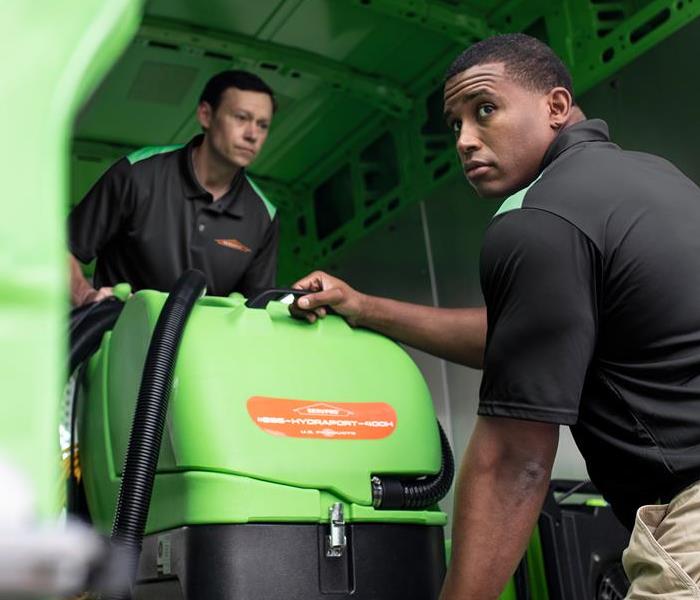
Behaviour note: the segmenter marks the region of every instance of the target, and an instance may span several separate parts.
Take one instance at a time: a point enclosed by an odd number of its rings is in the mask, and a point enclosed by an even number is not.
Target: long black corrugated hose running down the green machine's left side
[[[146,355],[112,529],[115,546],[128,554],[129,589],[136,580],[177,350],[187,318],[204,294],[205,285],[204,275],[194,269],[178,279],[158,317]],[[117,600],[130,597],[110,596]]]

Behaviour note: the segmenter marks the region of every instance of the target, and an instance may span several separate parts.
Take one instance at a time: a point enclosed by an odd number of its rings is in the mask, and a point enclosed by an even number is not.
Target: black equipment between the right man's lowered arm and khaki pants
[[[578,493],[597,493],[589,482],[552,481],[540,515],[549,599],[622,600],[629,582],[620,561],[630,532],[609,506],[561,504],[557,500],[557,493],[574,487]]]

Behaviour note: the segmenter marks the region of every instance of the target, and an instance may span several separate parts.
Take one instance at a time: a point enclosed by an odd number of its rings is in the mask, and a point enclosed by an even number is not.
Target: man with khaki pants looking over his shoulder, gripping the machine
[[[621,150],[572,97],[563,64],[522,34],[475,44],[448,71],[465,175],[480,196],[507,197],[481,253],[488,318],[369,297],[320,272],[297,284],[320,290],[298,301],[311,321],[330,305],[483,366],[443,600],[498,597],[560,425],[634,527],[628,598],[700,598],[700,190],[667,161]]]

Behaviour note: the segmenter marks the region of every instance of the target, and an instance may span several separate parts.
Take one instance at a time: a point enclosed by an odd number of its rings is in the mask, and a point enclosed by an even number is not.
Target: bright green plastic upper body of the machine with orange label
[[[80,454],[91,513],[104,528],[114,514],[141,372],[165,297],[135,294],[90,362]],[[303,421],[307,431],[288,432],[273,409],[251,412],[257,402],[251,399],[261,397],[283,399],[286,421]],[[365,403],[375,411],[378,403],[381,411],[389,406],[395,415],[368,416]],[[363,429],[349,424],[353,419],[369,424]],[[395,429],[381,425],[388,435],[364,437],[382,420]],[[249,309],[238,294],[205,297],[178,353],[148,527],[319,522],[338,501],[353,521],[443,525],[442,512],[376,511],[371,499],[373,474],[439,467],[430,395],[400,346],[339,317],[309,325],[277,302]]]

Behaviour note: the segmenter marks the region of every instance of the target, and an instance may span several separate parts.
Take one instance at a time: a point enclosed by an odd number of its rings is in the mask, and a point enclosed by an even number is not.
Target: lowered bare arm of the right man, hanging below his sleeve
[[[535,444],[545,448],[539,455],[515,444],[504,453],[484,451],[477,425],[459,475],[452,560],[440,600],[496,600],[515,571],[548,489],[558,440],[557,429],[539,425],[544,444]],[[539,434],[537,424],[526,426]],[[505,435],[517,439],[517,428]]]

